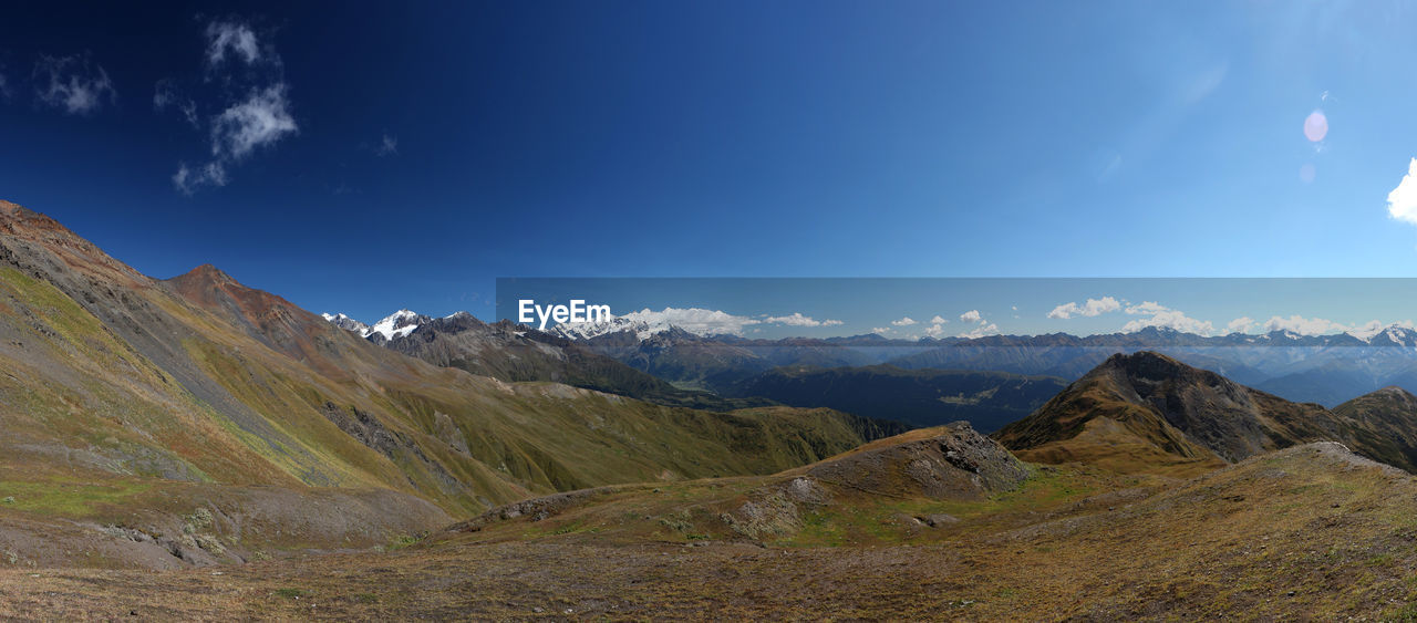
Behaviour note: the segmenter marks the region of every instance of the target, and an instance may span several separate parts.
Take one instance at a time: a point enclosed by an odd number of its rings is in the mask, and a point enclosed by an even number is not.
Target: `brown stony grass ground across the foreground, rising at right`
[[[628,508],[633,498],[604,504]],[[1417,615],[1417,486],[1302,446],[1156,494],[999,507],[856,544],[656,541],[568,513],[384,554],[0,571],[0,617],[1353,619]],[[958,508],[952,508],[958,511]],[[635,507],[633,513],[639,513]],[[589,513],[589,510],[587,510]],[[609,517],[599,510],[597,517]],[[887,521],[891,507],[873,518]],[[1012,518],[1007,515],[1013,515]],[[622,515],[629,515],[623,513]],[[558,520],[582,521],[555,524]],[[541,524],[563,525],[546,531]],[[584,530],[582,530],[584,528]],[[602,530],[604,528],[604,530]],[[555,534],[561,532],[561,534]],[[874,534],[871,542],[866,535]]]

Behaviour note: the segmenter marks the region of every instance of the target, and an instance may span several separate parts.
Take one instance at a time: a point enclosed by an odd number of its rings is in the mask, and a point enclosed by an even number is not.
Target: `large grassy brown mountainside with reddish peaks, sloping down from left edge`
[[[210,265],[149,278],[10,202],[0,370],[0,488],[23,517],[0,513],[0,535],[98,522],[167,562],[367,547],[529,494],[768,473],[896,430],[434,365]],[[224,520],[184,531],[197,515]]]

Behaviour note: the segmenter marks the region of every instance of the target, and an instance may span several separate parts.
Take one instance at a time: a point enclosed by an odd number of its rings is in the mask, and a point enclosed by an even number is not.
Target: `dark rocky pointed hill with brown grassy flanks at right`
[[[1288,402],[1144,351],[1108,358],[995,438],[1024,460],[1081,460],[1122,471],[1200,473],[1314,440],[1343,442],[1414,467],[1357,435],[1360,429],[1321,405]]]

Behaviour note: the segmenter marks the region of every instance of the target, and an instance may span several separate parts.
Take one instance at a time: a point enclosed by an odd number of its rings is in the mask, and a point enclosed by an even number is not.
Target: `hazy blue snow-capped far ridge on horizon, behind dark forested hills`
[[[402,317],[400,317],[402,314]],[[410,331],[401,312],[377,324]],[[329,316],[329,314],[327,314]],[[340,316],[332,321],[351,324]],[[429,319],[422,317],[427,323]],[[351,324],[359,330],[357,324]],[[523,327],[523,330],[529,330]],[[363,330],[370,336],[373,327]],[[1391,324],[1360,334],[1197,336],[1162,327],[1134,333],[988,336],[898,340],[879,334],[748,338],[689,331],[672,323],[618,317],[558,324],[547,331],[679,388],[743,396],[754,378],[778,367],[867,367],[999,371],[1077,378],[1114,354],[1156,350],[1287,399],[1336,406],[1387,385],[1417,388],[1417,330]],[[373,340],[380,341],[376,336]],[[941,423],[941,422],[931,422]],[[983,422],[978,422],[989,428]]]

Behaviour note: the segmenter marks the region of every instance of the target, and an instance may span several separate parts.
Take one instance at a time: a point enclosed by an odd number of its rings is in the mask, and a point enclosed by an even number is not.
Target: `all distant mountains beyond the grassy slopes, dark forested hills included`
[[[1144,350],[1329,408],[1383,387],[1417,388],[1417,331],[1396,324],[1357,336],[1206,337],[1146,327],[1087,337],[754,340],[639,316],[547,331],[486,324],[468,313],[432,319],[400,310],[373,326],[344,314],[324,317],[435,365],[506,381],[557,381],[714,411],[825,406],[917,426],[962,418],[986,432],[1040,406],[1061,379],[1077,378],[1114,354]],[[1040,379],[1047,381],[1039,385]],[[1019,394],[1023,387],[1030,388]]]

